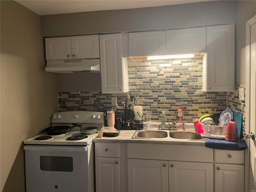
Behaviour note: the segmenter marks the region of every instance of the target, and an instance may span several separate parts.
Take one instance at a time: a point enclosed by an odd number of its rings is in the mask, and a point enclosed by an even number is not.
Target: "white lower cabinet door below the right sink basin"
[[[169,162],[170,192],[213,192],[213,164]]]

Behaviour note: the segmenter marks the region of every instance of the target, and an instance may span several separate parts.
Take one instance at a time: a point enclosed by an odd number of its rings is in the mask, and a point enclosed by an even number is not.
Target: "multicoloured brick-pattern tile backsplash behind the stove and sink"
[[[169,60],[128,60],[129,94],[140,95],[137,102],[144,114],[150,113],[155,122],[160,121],[164,110],[168,122],[178,120],[178,108],[183,111],[182,120],[192,122],[203,114],[221,113],[231,108],[243,114],[245,103],[235,92],[202,92],[202,58]],[[117,97],[117,110],[124,112],[121,99],[125,94],[102,94],[100,91],[59,92],[59,111],[88,110],[105,112],[111,108],[111,98]],[[245,121],[245,120],[244,120]]]

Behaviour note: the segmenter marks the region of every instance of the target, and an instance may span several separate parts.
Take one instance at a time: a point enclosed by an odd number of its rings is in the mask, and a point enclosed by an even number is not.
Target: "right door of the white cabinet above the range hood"
[[[73,59],[100,58],[98,35],[74,36],[71,40]]]

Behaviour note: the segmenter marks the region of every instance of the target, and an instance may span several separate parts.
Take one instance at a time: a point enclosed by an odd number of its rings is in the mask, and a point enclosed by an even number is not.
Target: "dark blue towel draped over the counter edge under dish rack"
[[[246,142],[244,140],[231,142],[221,139],[204,138],[204,141],[205,146],[212,149],[241,151],[247,148]]]

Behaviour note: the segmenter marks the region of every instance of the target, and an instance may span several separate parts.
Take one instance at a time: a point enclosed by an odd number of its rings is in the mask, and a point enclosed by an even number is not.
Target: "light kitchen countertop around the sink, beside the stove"
[[[132,136],[136,130],[120,130],[119,136],[116,137],[102,137],[98,135],[93,139],[93,142],[112,142],[112,143],[151,143],[151,144],[176,144],[176,145],[201,145],[205,146],[203,139],[174,139],[174,138],[156,138],[156,139],[133,139]],[[188,130],[192,131],[192,130]]]

